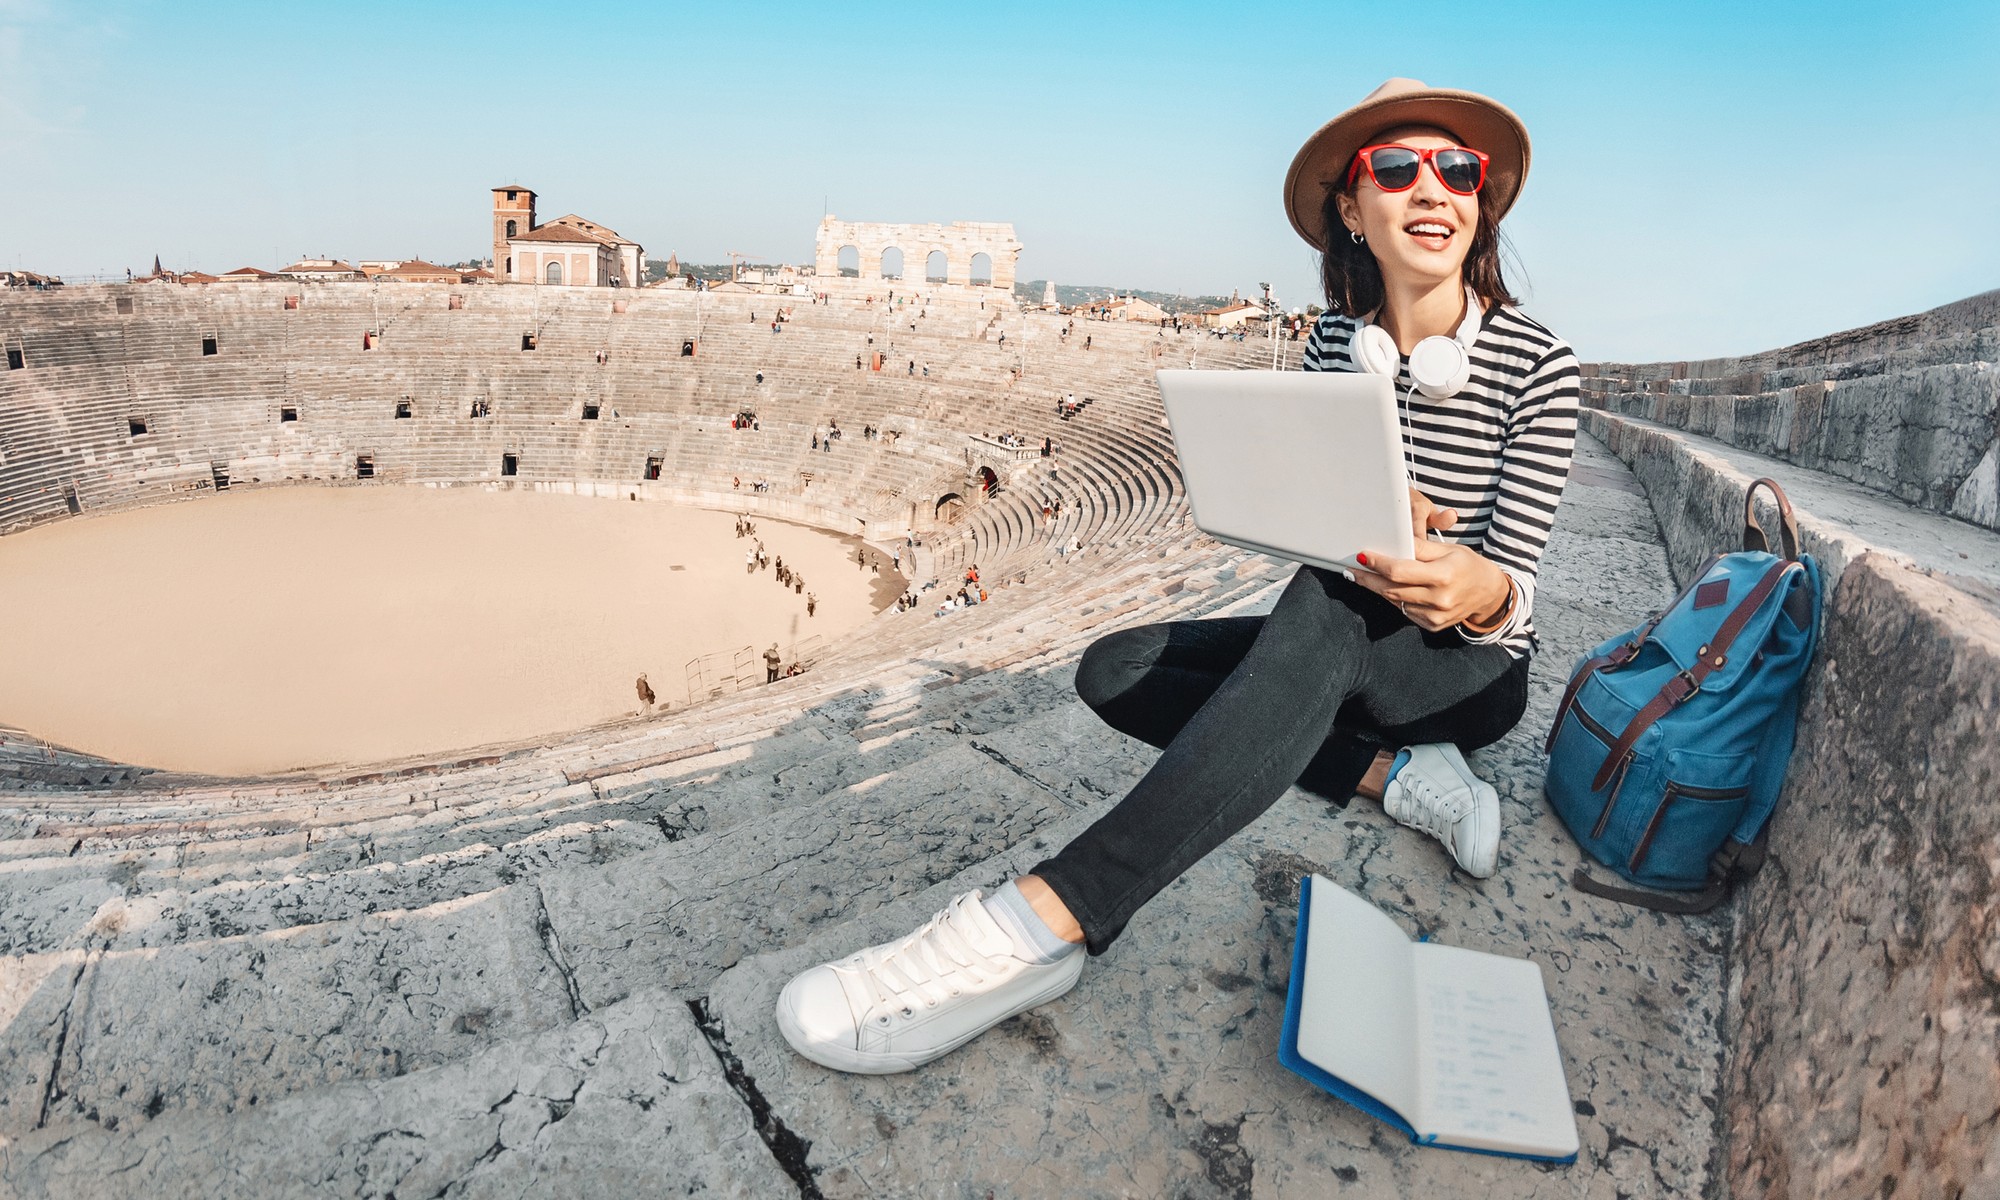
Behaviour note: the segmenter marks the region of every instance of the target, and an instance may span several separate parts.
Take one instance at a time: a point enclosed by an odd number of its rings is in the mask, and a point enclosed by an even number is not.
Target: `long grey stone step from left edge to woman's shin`
[[[140,902],[130,930],[112,914],[84,948],[10,960],[0,1130],[246,1108],[452,1062],[634,988],[698,990],[1068,812],[956,746],[770,820],[430,906],[152,946]]]

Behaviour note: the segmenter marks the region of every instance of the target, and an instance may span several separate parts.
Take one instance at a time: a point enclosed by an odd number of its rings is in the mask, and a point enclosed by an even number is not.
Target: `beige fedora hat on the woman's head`
[[[1528,178],[1528,126],[1504,104],[1478,92],[1430,88],[1422,80],[1388,80],[1306,138],[1284,176],[1284,214],[1314,250],[1326,248],[1322,208],[1328,188],[1346,182],[1354,154],[1376,134],[1408,124],[1448,130],[1466,146],[1484,150],[1492,162],[1486,164],[1480,206],[1494,220],[1514,206],[1514,196],[1520,196],[1520,184]]]

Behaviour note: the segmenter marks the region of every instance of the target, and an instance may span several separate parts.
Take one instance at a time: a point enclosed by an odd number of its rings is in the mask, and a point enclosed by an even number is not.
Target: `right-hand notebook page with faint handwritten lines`
[[[1576,1154],[1542,970],[1526,958],[1416,946],[1416,1132],[1450,1146]]]

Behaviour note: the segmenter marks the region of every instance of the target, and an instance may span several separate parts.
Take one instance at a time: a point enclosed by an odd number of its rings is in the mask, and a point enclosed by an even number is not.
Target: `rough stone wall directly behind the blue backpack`
[[[1676,580],[1740,544],[1750,474],[1606,412],[1584,428],[1644,484]],[[1730,1188],[2000,1196],[2000,606],[1846,520],[1802,510],[1800,538],[1828,590],[1730,938]]]

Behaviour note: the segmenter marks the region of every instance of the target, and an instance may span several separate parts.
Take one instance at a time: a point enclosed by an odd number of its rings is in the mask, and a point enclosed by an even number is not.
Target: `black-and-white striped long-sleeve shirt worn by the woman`
[[[1306,340],[1306,370],[1356,370],[1348,342],[1360,324],[1322,314]],[[1456,396],[1432,400],[1414,390],[1408,360],[1396,374],[1410,484],[1438,508],[1458,510],[1444,538],[1478,550],[1520,588],[1506,626],[1466,640],[1498,642],[1514,658],[1540,646],[1534,580],[1570,478],[1578,378],[1568,342],[1506,304],[1480,322],[1472,378]]]

